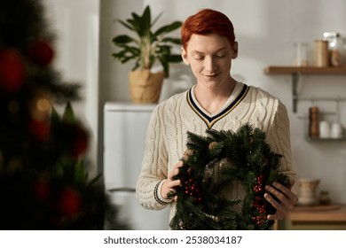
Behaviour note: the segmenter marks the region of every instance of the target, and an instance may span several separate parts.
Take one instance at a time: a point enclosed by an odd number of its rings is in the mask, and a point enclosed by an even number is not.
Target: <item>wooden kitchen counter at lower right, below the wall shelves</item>
[[[346,230],[346,205],[295,206],[277,228]]]

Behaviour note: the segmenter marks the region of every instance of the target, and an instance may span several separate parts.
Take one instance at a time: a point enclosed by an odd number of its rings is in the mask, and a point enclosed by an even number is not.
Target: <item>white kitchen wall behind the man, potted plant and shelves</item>
[[[158,25],[187,16],[204,7],[224,12],[232,19],[240,43],[239,58],[232,62],[232,74],[249,85],[269,91],[287,105],[291,123],[291,142],[295,168],[302,177],[321,179],[320,189],[329,190],[334,202],[346,203],[346,142],[308,143],[304,139],[305,120],[310,102],[301,102],[292,111],[290,75],[265,75],[270,65],[292,65],[294,43],[310,44],[325,31],[338,31],[346,37],[346,1],[343,0],[105,0],[101,3],[100,107],[105,101],[130,101],[127,72],[132,65],[110,59],[112,35],[126,32],[113,19],[124,19],[130,12],[142,12],[150,4],[153,14],[165,12]],[[177,32],[178,35],[178,32]],[[346,56],[344,56],[346,60]],[[193,76],[183,65],[173,65],[164,82],[161,100],[189,88]],[[299,93],[324,97],[346,97],[346,76],[303,76]],[[321,111],[334,111],[335,103],[317,102]],[[346,105],[341,103],[342,124],[346,126]],[[335,116],[326,116],[334,120]]]

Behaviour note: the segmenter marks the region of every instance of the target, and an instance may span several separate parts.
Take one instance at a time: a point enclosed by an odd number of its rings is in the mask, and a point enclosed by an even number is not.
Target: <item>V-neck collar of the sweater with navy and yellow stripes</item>
[[[237,81],[231,96],[228,98],[224,106],[218,112],[210,114],[198,103],[196,97],[194,96],[194,88],[195,86],[193,86],[193,88],[191,88],[187,93],[187,103],[207,124],[208,128],[212,128],[217,120],[221,120],[225,115],[231,112],[248,94],[249,89],[248,85]]]

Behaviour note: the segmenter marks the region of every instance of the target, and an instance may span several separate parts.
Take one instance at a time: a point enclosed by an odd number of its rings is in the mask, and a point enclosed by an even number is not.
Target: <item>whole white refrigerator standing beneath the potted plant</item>
[[[146,210],[136,198],[146,128],[156,105],[107,102],[104,106],[104,180],[119,217],[135,230],[169,229],[169,207]]]

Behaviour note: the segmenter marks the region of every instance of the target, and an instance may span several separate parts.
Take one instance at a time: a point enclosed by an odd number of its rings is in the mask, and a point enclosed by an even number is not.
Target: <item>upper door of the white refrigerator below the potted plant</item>
[[[104,178],[106,190],[135,190],[145,151],[146,129],[153,109],[129,110],[106,105]]]

